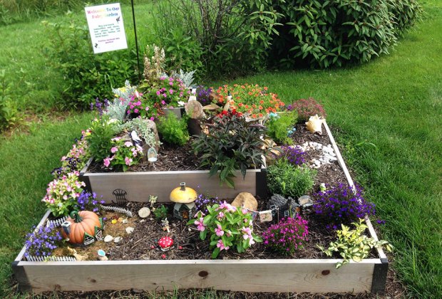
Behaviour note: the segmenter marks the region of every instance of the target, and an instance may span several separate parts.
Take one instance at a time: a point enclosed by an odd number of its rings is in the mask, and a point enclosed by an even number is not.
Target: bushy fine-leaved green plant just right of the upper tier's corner
[[[287,159],[277,159],[267,167],[267,187],[272,194],[298,198],[313,188],[316,174],[314,169],[292,165]]]

